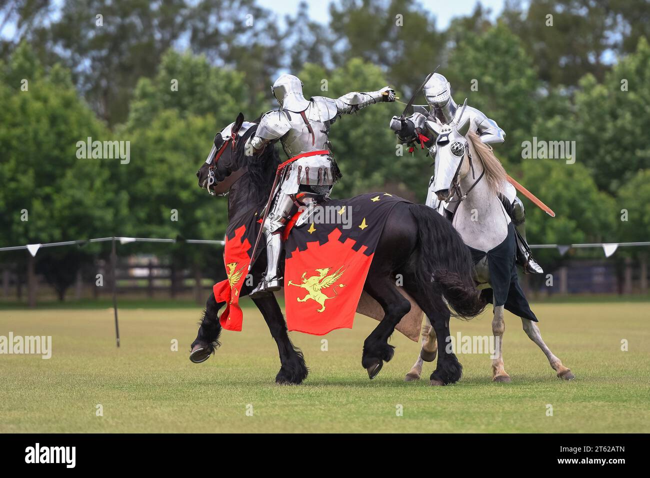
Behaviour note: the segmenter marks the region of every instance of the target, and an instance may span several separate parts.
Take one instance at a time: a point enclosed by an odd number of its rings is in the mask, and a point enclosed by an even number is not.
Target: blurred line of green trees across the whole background
[[[479,4],[441,30],[417,3],[341,0],[328,25],[304,3],[282,27],[254,0],[9,1],[0,7],[0,32],[14,29],[0,42],[0,245],[220,239],[226,202],[200,191],[194,172],[239,111],[253,119],[275,107],[278,72],[298,75],[305,96],[389,84],[406,101],[437,64],[456,101],[467,98],[506,131],[495,148],[506,170],[556,211],[551,219],[525,200],[531,243],[647,240],[648,14],[642,0],[508,1],[495,21]],[[343,171],[334,196],[386,190],[424,200],[431,158],[399,155],[387,127],[402,107],[366,109],[333,127]],[[79,159],[77,143],[88,138],[128,141],[129,162]],[[575,142],[575,161],[525,157],[534,140]],[[205,250],[133,250],[206,273],[222,267]],[[103,253],[51,249],[40,270],[72,283]]]

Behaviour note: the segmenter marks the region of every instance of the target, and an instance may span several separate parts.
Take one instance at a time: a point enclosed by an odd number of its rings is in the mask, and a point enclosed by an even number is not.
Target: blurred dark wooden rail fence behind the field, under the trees
[[[57,295],[34,272],[34,259],[20,270],[16,265],[0,265],[0,301],[25,302],[36,306],[38,300],[55,300]],[[520,274],[526,294],[539,298],[551,295],[643,294],[648,293],[647,258],[630,258],[621,263],[610,259],[571,259],[546,274]],[[155,256],[125,256],[116,263],[119,297],[134,299],[181,298],[203,304],[215,282],[226,278],[222,270],[205,274],[200,267],[174,267]],[[110,261],[96,259],[90,267],[77,272],[66,292],[66,300],[108,299],[111,297]]]

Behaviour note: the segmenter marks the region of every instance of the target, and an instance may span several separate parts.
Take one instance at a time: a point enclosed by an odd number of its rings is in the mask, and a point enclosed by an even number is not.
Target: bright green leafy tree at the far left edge
[[[69,72],[45,70],[23,43],[1,68],[0,105],[0,177],[10,178],[0,188],[3,245],[105,237],[118,224],[129,232],[127,197],[109,180],[119,159],[77,157],[77,142],[112,138],[77,96]],[[59,265],[75,276],[81,263],[77,254]],[[68,276],[46,278],[60,295],[70,285]]]

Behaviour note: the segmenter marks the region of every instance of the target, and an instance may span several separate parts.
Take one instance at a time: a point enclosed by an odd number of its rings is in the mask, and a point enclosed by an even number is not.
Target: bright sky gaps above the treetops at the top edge
[[[307,0],[309,4],[309,16],[313,20],[320,20],[327,23],[330,20],[328,13],[330,3],[333,0]],[[262,7],[272,10],[279,16],[295,15],[300,0],[257,0]],[[495,18],[503,9],[504,0],[419,0],[419,3],[437,17],[435,25],[438,29],[445,29],[452,18],[471,14],[476,3],[492,10],[491,18]]]

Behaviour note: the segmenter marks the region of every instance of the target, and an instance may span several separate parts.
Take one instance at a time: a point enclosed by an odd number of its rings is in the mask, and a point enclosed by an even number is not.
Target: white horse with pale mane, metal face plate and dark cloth
[[[517,282],[513,224],[497,196],[506,187],[506,172],[499,159],[490,146],[469,131],[469,116],[460,125],[429,122],[429,126],[435,132],[437,146],[432,191],[440,202],[454,201],[454,196],[460,201],[452,223],[471,249],[478,287],[492,291],[484,291],[486,299],[494,304],[492,333],[497,350],[492,359],[492,380],[510,382],[503,365],[504,308],[521,317],[524,331],[544,352],[558,377],[575,378],[544,343],[537,319]],[[443,339],[446,346],[448,338]],[[436,354],[437,338],[427,318],[422,326],[420,356],[405,380],[419,379],[422,363],[431,362]]]

